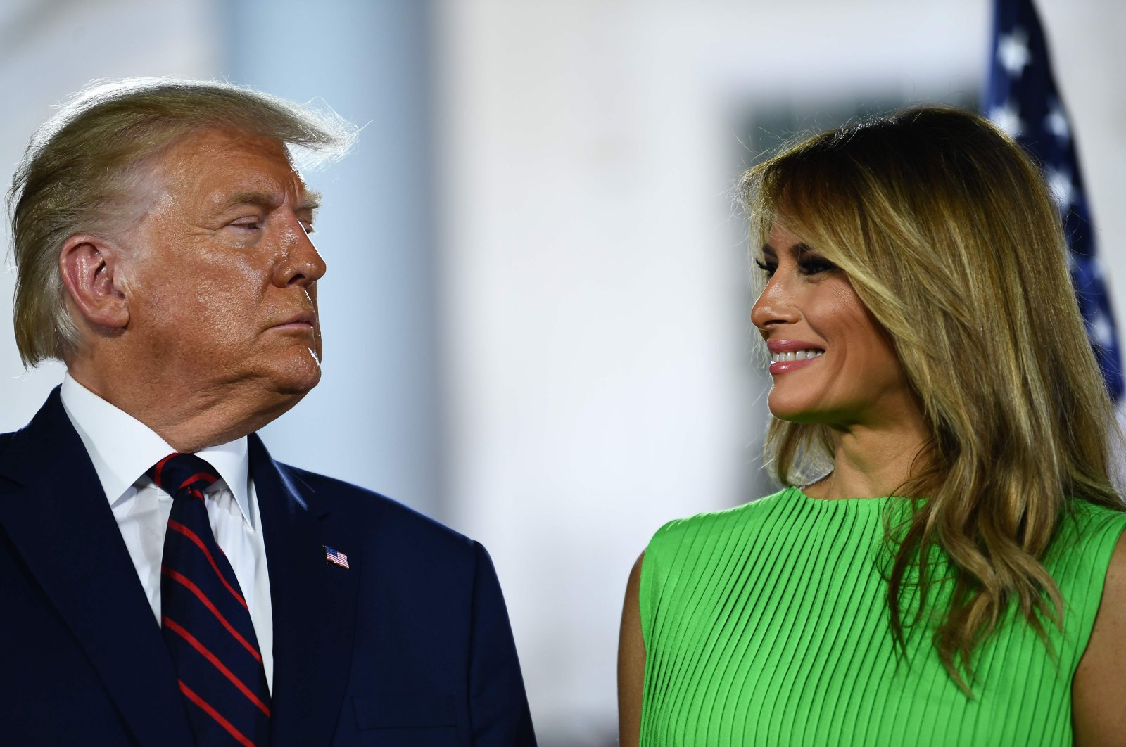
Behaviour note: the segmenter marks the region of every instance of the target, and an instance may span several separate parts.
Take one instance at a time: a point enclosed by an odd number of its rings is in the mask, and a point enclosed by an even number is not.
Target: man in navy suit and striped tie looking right
[[[66,363],[0,435],[0,739],[534,745],[484,549],[275,462],[320,379],[331,117],[218,83],[89,90],[12,190],[16,336]]]

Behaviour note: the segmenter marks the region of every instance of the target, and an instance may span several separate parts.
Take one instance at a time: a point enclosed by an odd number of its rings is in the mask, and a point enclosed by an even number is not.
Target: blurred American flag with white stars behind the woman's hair
[[[1087,336],[1110,396],[1121,402],[1118,333],[1096,253],[1091,210],[1071,125],[1052,75],[1044,29],[1031,0],[994,0],[992,52],[986,111],[1044,169],[1067,236],[1071,278]]]

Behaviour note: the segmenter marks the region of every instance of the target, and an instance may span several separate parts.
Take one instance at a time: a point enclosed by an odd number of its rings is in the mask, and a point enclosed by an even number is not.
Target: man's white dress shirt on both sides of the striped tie
[[[160,556],[164,549],[172,496],[157,487],[145,471],[176,449],[148,425],[83,387],[70,374],[63,377],[60,394],[63,408],[98,472],[149,605],[160,624]],[[250,609],[266,682],[272,690],[270,578],[258,497],[249,475],[247,438],[207,447],[196,456],[211,464],[220,476],[205,490],[207,515],[215,541],[231,561]]]

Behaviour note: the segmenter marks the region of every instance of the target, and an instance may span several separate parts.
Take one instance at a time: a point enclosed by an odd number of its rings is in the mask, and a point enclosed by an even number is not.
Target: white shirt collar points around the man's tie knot
[[[176,451],[148,425],[87,389],[70,372],[63,376],[60,397],[110,505],[148,479],[144,474],[150,467]],[[250,512],[247,436],[207,447],[196,456],[215,468],[239,504],[243,521],[257,530]]]

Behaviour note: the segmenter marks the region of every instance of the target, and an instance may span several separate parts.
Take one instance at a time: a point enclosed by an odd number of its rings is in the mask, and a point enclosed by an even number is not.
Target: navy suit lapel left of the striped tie
[[[98,475],[55,388],[0,453],[0,524],[141,744],[190,745],[176,674]]]

